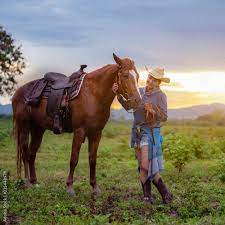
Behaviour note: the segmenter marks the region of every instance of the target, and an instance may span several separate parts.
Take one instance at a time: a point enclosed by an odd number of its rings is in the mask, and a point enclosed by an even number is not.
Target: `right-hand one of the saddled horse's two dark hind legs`
[[[33,127],[31,129],[31,141],[29,146],[29,169],[30,169],[30,182],[32,184],[37,182],[35,171],[35,159],[37,151],[41,145],[44,129],[39,127]]]

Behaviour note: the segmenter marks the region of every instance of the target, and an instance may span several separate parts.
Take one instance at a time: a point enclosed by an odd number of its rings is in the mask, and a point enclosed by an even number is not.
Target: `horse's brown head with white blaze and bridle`
[[[117,76],[118,94],[120,94],[133,110],[141,103],[141,95],[138,88],[139,74],[134,61],[129,58],[121,59],[113,53],[113,58],[119,65]]]

